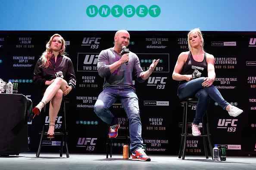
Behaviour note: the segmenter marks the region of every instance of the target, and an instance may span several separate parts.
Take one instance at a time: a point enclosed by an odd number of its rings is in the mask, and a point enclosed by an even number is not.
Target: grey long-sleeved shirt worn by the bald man
[[[140,61],[136,54],[129,53],[128,65],[123,63],[112,74],[110,73],[109,65],[119,61],[122,56],[114,51],[114,48],[105,49],[100,52],[97,70],[99,75],[104,78],[103,89],[106,87],[128,86],[133,89],[132,78],[134,77],[138,82],[144,82],[141,79],[140,73],[143,72],[140,67]]]

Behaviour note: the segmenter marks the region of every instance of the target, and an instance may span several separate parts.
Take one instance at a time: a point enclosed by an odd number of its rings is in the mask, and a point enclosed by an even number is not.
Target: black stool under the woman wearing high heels
[[[66,149],[66,157],[69,158],[69,149],[68,149],[68,140],[67,140],[68,132],[66,131],[66,103],[68,103],[68,100],[66,99],[66,97],[63,97],[62,98],[62,109],[63,109],[63,114],[62,114],[62,131],[61,132],[54,132],[54,136],[62,136],[62,140],[60,142],[59,156],[62,157],[63,143],[64,143],[65,149]],[[44,114],[45,113],[46,113],[46,106],[44,107]],[[41,134],[41,135],[40,135],[40,142],[39,142],[38,150],[37,150],[37,153],[36,153],[36,157],[37,158],[39,157],[40,152],[41,152],[41,146],[42,146],[43,138],[47,136],[47,132],[44,131],[45,116],[43,116],[43,115],[42,115],[42,121],[43,121],[43,127],[42,127],[42,131],[39,132],[39,134]]]

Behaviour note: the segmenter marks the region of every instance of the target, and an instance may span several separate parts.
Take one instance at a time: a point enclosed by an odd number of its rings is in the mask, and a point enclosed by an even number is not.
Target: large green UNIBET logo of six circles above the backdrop
[[[135,14],[137,14],[138,17],[145,17],[148,14],[151,17],[158,17],[161,13],[161,9],[157,5],[152,5],[149,8],[145,5],[140,5],[137,6],[136,9],[132,5],[125,6],[125,8],[122,8],[120,5],[112,6],[112,8],[107,5],[103,5],[100,6],[99,9],[95,5],[90,5],[86,9],[86,14],[89,17],[95,17],[98,13],[101,17],[107,17],[110,13],[113,17],[120,17],[123,14],[128,18],[133,17]]]

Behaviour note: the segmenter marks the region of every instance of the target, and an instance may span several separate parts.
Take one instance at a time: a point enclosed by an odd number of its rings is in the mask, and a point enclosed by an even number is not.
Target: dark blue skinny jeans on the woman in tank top
[[[223,99],[219,90],[215,88],[214,85],[203,87],[202,83],[204,82],[204,79],[205,77],[200,77],[198,79],[190,80],[189,82],[185,82],[178,87],[178,97],[181,100],[187,97],[198,98],[196,116],[193,121],[194,124],[199,124],[202,121],[203,115],[207,110],[209,97],[217,102],[223,109],[226,109],[229,104]]]

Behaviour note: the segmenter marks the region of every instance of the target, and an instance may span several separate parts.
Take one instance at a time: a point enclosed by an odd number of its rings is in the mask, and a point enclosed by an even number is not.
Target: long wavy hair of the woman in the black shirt
[[[53,50],[51,49],[51,44],[52,44],[52,41],[53,41],[53,38],[55,36],[58,36],[62,42],[62,47],[59,51],[59,54],[64,56],[66,53],[65,53],[65,49],[66,49],[66,46],[65,46],[65,40],[63,39],[63,37],[59,34],[54,34],[53,36],[51,36],[50,40],[48,41],[48,43],[46,44],[46,50],[43,52],[43,54],[41,55],[41,61],[42,61],[42,64],[41,64],[41,67],[43,68],[47,68],[50,66],[50,58],[52,58],[53,54]]]

